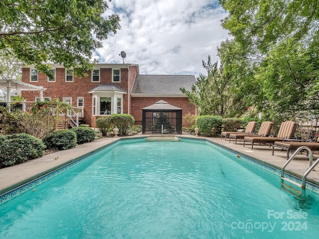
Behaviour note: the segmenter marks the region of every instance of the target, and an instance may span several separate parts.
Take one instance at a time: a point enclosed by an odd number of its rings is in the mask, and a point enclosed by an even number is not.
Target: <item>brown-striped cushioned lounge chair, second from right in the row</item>
[[[292,139],[296,131],[296,128],[297,128],[297,123],[294,121],[289,120],[289,121],[282,122],[280,125],[280,129],[279,129],[277,137],[245,136],[244,147],[245,147],[245,142],[250,142],[251,149],[253,149],[254,143],[260,143],[260,144],[269,143],[270,145],[272,145],[275,141],[284,141],[284,140]]]

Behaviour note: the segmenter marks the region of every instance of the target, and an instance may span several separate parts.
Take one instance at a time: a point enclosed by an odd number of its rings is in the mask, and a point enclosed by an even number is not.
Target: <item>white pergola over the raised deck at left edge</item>
[[[9,79],[7,77],[0,78],[0,88],[6,89],[6,102],[11,101],[11,91],[39,91],[40,101],[43,101],[43,91],[46,90],[43,86],[34,86],[25,82]]]

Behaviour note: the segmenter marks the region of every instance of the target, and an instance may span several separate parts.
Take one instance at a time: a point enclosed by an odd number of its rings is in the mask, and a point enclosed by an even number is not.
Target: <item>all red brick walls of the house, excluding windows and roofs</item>
[[[65,69],[56,68],[55,82],[47,82],[47,76],[43,73],[38,74],[38,82],[30,82],[30,69],[22,68],[22,82],[26,82],[36,86],[43,86],[47,90],[43,91],[43,97],[59,98],[61,101],[63,97],[72,97],[72,106],[76,107],[77,97],[84,98],[84,121],[95,127],[95,120],[97,117],[92,116],[92,94],[89,94],[92,88],[98,86],[100,83],[116,84],[127,91],[123,95],[123,113],[132,115],[136,124],[142,124],[142,109],[163,100],[168,104],[181,108],[183,116],[187,113],[195,114],[195,107],[190,105],[186,97],[130,97],[133,87],[134,79],[138,74],[138,66],[130,66],[130,69],[121,69],[121,82],[112,82],[112,69],[100,68],[100,82],[91,82],[91,71],[87,72],[88,76],[82,78],[74,77],[73,82],[65,82]],[[130,75],[130,81],[129,79]],[[35,97],[39,97],[39,92],[25,91],[22,92],[22,97],[27,101],[34,101]],[[130,109],[128,99],[130,99]]]

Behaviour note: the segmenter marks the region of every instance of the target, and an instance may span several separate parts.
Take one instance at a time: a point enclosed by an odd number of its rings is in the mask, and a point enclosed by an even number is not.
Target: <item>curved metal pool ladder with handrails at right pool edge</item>
[[[303,178],[302,178],[302,184],[300,183],[297,183],[293,180],[290,180],[288,178],[285,178],[285,168],[286,166],[294,159],[294,157],[296,156],[297,153],[299,153],[301,150],[308,150],[308,153],[309,153],[309,168],[308,170],[305,172]],[[319,158],[315,161],[315,163],[313,164],[313,152],[311,151],[311,149],[307,146],[301,146],[300,148],[298,148],[294,153],[293,155],[291,155],[291,157],[287,160],[287,162],[284,164],[282,170],[281,170],[281,180],[282,180],[282,183],[284,180],[292,183],[292,184],[295,184],[299,187],[301,187],[302,189],[305,189],[306,188],[306,178],[308,176],[308,174],[317,166],[317,164],[319,163]]]

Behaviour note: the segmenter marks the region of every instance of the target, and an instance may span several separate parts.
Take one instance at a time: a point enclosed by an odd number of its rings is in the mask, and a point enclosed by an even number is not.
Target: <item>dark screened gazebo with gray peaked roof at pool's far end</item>
[[[143,108],[142,133],[181,133],[182,109],[158,101]]]

